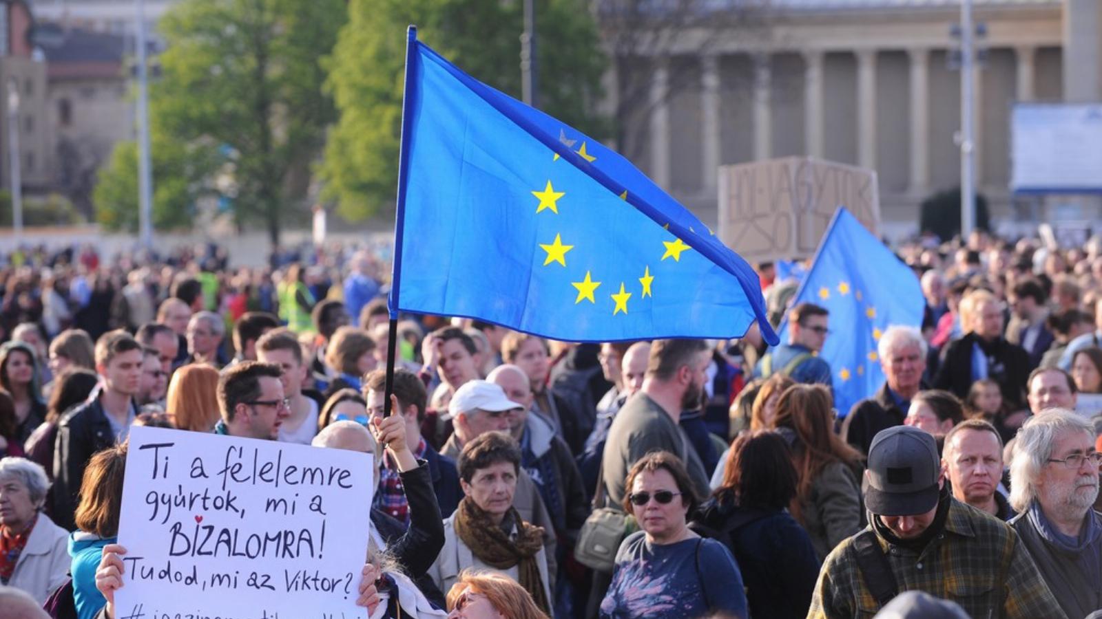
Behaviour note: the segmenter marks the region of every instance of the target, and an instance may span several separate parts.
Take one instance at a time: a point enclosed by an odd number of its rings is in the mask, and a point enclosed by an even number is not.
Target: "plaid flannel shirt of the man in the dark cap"
[[[921,553],[876,535],[898,590],[955,601],[973,619],[1067,619],[1017,534],[994,517],[950,500],[944,531]],[[879,610],[857,565],[855,537],[823,563],[808,619],[873,617]]]

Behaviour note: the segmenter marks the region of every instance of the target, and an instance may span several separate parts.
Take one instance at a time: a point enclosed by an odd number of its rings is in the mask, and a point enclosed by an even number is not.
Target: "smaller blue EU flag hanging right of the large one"
[[[803,302],[830,312],[830,335],[819,356],[830,363],[840,415],[884,384],[876,351],[884,330],[893,325],[920,327],[925,306],[910,267],[845,208],[834,214],[792,304]],[[779,335],[788,341],[787,322]]]

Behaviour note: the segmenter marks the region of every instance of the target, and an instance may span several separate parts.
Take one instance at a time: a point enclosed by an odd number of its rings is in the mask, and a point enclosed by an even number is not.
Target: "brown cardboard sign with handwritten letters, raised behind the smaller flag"
[[[838,207],[879,234],[872,170],[809,158],[720,166],[720,238],[750,264],[811,258]]]

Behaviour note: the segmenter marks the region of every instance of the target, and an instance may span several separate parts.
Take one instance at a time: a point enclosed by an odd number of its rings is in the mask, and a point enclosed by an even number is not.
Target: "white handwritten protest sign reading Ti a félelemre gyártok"
[[[132,427],[117,619],[367,619],[369,454]]]

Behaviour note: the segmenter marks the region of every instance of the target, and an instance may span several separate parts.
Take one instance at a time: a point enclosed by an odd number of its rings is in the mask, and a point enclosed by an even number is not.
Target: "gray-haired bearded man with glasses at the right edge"
[[[1090,422],[1047,410],[1022,426],[1011,464],[1011,521],[1069,618],[1102,609],[1102,453]]]

